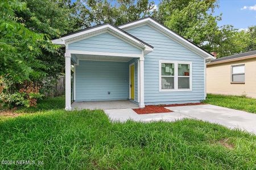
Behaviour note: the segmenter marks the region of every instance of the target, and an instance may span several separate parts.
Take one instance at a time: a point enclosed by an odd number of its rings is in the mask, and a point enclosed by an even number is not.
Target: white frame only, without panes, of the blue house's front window
[[[162,89],[162,63],[174,63],[174,89]],[[178,64],[189,65],[189,88],[178,88],[178,78],[187,76],[178,76]],[[166,61],[159,60],[159,92],[170,92],[170,91],[192,91],[192,62],[187,61]]]

